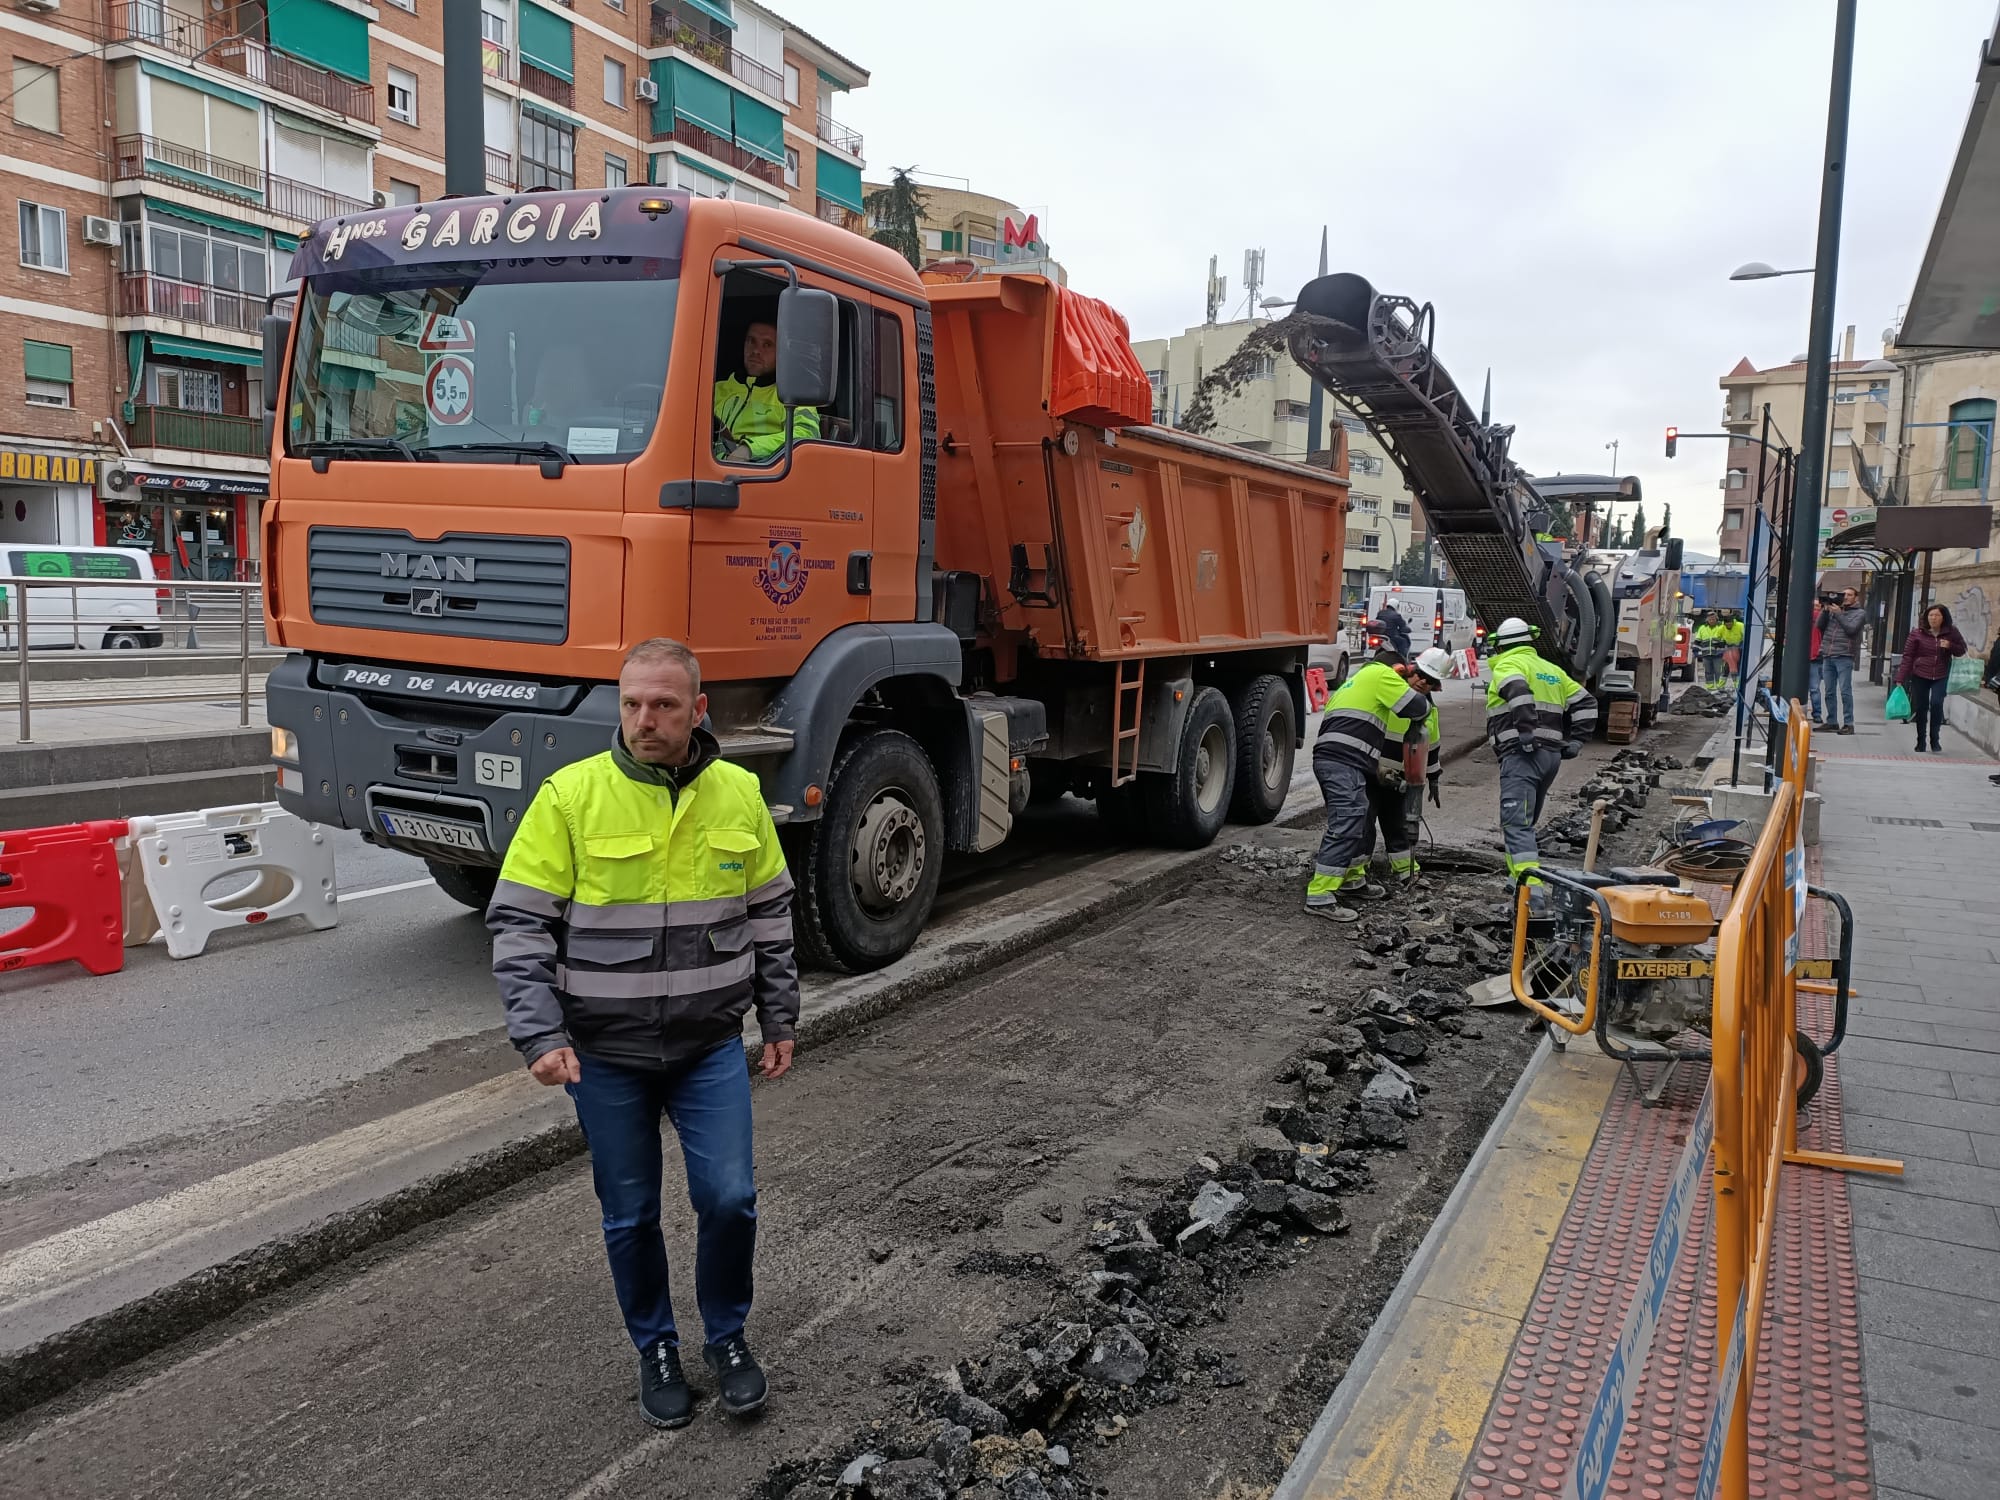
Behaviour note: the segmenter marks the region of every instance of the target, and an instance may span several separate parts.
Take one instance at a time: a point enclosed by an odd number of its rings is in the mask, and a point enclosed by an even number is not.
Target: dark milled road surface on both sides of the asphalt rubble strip
[[[1708,728],[1652,744],[1686,754]],[[1476,758],[1464,772],[1472,784],[1448,788],[1452,824],[1490,828],[1492,768]],[[1298,910],[1298,884],[1226,866],[1184,876],[758,1084],[752,1336],[774,1396],[756,1426],[712,1408],[680,1434],[638,1422],[576,1162],[16,1420],[0,1430],[0,1492],[742,1494],[774,1462],[824,1452],[902,1404],[892,1376],[984,1352],[1046,1304],[1034,1278],[958,1270],[972,1252],[1076,1268],[1086,1202],[1178,1178],[1256,1124],[1282,1058],[1378,978],[1346,962],[1346,936]],[[1448,892],[1490,902],[1498,888]],[[1122,1440],[1082,1454],[1092,1482],[1164,1500],[1276,1478],[1528,1052],[1518,1018],[1482,1026],[1420,1070],[1426,1114],[1408,1152],[1378,1158],[1372,1194],[1348,1200],[1354,1230],[1246,1284],[1206,1334],[1246,1384],[1136,1416]],[[670,1162],[668,1236],[684,1270],[692,1226],[676,1174]],[[690,1290],[682,1276],[692,1340]]]

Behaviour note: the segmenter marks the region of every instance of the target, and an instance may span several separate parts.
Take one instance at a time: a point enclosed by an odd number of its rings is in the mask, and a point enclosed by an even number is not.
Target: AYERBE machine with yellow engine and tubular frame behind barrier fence
[[[1514,998],[1550,1026],[1560,1048],[1594,1032],[1622,1064],[1666,1068],[1640,1084],[1656,1104],[1682,1062],[1708,1060],[1714,1014],[1716,916],[1668,870],[1540,872],[1542,884],[1514,892]],[[1798,1106],[1820,1088],[1824,1058],[1848,1020],[1848,960],[1854,924],[1834,892],[1810,890],[1840,912],[1840,956],[1798,964],[1802,978],[1832,978],[1834,1034],[1822,1046],[1798,1032]]]

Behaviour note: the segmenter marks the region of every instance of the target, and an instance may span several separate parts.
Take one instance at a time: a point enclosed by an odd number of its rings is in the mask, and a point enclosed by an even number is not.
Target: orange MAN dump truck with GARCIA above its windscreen
[[[1148,426],[1104,304],[644,188],[330,220],[294,276],[264,324],[292,812],[478,906],[542,778],[610,744],[624,652],[676,636],[824,964],[904,954],[946,850],[1030,800],[1184,846],[1276,816],[1346,466]],[[762,458],[724,430],[750,400],[792,436]]]

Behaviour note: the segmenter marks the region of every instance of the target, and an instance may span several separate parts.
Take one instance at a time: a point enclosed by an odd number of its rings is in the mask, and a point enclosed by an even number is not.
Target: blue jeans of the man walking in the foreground
[[[756,1256],[756,1176],[750,1152],[750,1064],[738,1038],[680,1072],[640,1072],[576,1056],[566,1084],[590,1146],[604,1208],[604,1254],[626,1332],[640,1352],[680,1346],[660,1234],[660,1114],[674,1122],[694,1204],[694,1302],[702,1334],[720,1344],[750,1318]]]

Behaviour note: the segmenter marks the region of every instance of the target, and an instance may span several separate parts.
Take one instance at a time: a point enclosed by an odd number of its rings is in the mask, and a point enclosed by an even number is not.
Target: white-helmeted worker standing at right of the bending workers
[[[1486,738],[1500,756],[1500,834],[1512,880],[1540,884],[1542,856],[1534,824],[1564,760],[1584,748],[1598,724],[1598,702],[1568,672],[1534,648],[1534,628],[1508,618],[1494,632],[1500,650],[1488,662]]]

